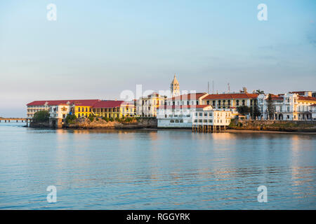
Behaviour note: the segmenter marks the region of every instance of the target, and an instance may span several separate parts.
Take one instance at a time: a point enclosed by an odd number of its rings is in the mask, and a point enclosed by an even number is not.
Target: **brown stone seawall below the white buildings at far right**
[[[232,120],[230,129],[279,132],[316,132],[315,120]]]

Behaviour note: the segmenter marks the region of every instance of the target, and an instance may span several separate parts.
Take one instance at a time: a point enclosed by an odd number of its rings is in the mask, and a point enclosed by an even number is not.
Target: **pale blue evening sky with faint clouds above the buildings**
[[[34,100],[169,90],[174,73],[180,90],[316,91],[315,62],[315,0],[0,1],[0,117]]]

